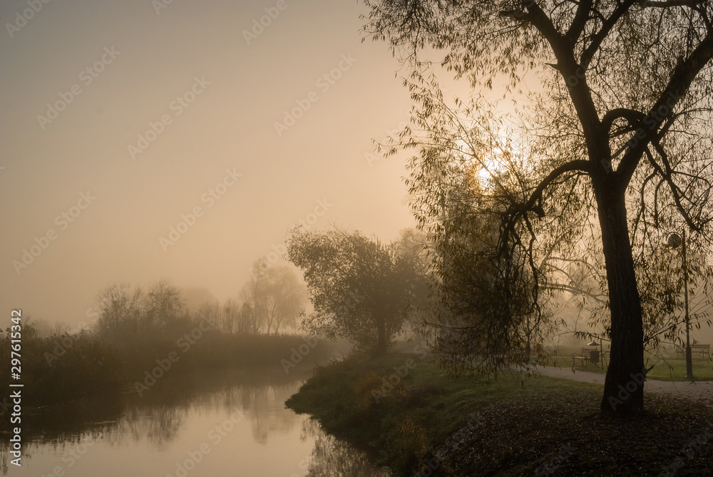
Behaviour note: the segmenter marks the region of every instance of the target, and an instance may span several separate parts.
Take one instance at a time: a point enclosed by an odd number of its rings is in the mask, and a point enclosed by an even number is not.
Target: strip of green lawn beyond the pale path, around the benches
[[[579,353],[580,348],[575,347],[560,347],[558,354],[550,358],[550,363],[553,366],[562,368],[572,367],[572,353]],[[713,361],[708,357],[701,357],[699,354],[693,354],[693,376],[698,381],[713,380]],[[664,357],[656,357],[652,354],[647,354],[644,361],[648,368],[652,364],[654,367],[646,375],[647,379],[660,379],[663,381],[689,381],[686,379],[686,359],[684,357],[676,357],[675,354],[664,355]],[[606,355],[606,364],[609,363],[609,355]],[[590,371],[593,373],[605,373],[607,366],[602,369],[601,363],[598,366],[589,364],[584,366],[580,362],[575,363],[575,369],[580,371]]]

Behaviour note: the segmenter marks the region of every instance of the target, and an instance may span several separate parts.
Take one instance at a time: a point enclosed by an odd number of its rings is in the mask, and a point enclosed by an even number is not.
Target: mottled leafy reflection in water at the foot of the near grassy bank
[[[329,434],[314,441],[312,463],[307,477],[388,477],[391,473],[374,468],[366,453]]]

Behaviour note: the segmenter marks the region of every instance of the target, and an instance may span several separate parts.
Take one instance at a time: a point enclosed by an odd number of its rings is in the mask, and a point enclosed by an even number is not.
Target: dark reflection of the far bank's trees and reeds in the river
[[[51,406],[27,416],[23,456],[30,458],[34,446],[63,448],[88,439],[110,446],[145,442],[155,451],[166,451],[180,438],[188,416],[204,412],[224,413],[228,419],[239,411],[250,423],[255,441],[265,444],[270,435],[287,433],[302,421],[284,409],[284,401],[297,391],[300,379],[279,371],[165,379],[143,396],[121,394]],[[8,453],[1,454],[0,468],[9,466]],[[6,475],[7,470],[3,472]]]

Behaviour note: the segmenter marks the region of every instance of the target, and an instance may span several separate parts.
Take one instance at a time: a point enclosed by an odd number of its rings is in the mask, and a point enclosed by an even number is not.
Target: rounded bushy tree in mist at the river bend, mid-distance
[[[289,260],[304,272],[314,312],[304,326],[383,354],[419,289],[418,265],[359,232],[293,230]]]

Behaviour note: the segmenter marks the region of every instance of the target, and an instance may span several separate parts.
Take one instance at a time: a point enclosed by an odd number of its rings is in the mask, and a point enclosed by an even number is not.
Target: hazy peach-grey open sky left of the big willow
[[[413,225],[404,161],[365,158],[410,101],[386,45],[361,43],[364,13],[2,2],[4,309],[76,324],[106,284],[160,277],[225,299],[300,220]]]

